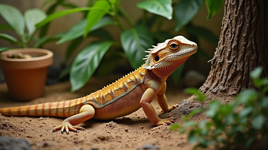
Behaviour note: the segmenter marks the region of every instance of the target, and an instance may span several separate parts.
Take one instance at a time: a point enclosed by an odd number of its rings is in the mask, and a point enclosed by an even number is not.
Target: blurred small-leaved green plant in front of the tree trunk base
[[[175,125],[171,129],[180,128],[184,133],[189,128],[188,141],[195,147],[206,148],[209,145],[223,143],[226,147],[247,149],[253,143],[268,146],[268,77],[260,78],[262,68],[257,67],[250,76],[260,92],[248,89],[239,93],[229,104],[221,104],[219,100],[211,101],[207,109],[193,110],[188,116],[183,116],[184,125]],[[196,93],[199,101],[204,101],[204,94],[197,89],[187,89]],[[191,121],[198,112],[205,113],[208,119],[200,123]]]

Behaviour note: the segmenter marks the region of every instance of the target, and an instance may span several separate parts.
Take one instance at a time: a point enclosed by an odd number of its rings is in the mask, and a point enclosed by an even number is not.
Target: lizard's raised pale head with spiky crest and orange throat
[[[150,51],[145,51],[149,54],[144,58],[146,63],[143,68],[152,70],[161,78],[168,77],[197,51],[196,43],[183,36],[176,36],[152,47],[148,49]]]

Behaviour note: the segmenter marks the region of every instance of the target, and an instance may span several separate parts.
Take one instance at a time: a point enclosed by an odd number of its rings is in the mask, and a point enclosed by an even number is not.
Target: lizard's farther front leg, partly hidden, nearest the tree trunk
[[[179,105],[176,104],[176,105],[172,105],[169,107],[167,98],[165,96],[166,87],[167,86],[166,86],[166,82],[165,82],[163,88],[156,94],[156,99],[157,99],[159,106],[163,110],[163,112],[170,112],[174,108],[177,108]]]

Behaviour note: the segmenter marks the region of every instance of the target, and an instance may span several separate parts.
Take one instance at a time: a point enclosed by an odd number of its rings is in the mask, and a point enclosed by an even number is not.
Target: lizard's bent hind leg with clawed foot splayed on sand
[[[85,104],[80,108],[79,114],[73,115],[71,117],[66,118],[60,126],[54,128],[52,132],[61,129],[61,134],[64,131],[69,133],[69,130],[78,132],[77,130],[85,130],[82,127],[75,127],[74,125],[80,124],[88,119],[91,119],[95,115],[95,109],[93,106],[89,104]]]

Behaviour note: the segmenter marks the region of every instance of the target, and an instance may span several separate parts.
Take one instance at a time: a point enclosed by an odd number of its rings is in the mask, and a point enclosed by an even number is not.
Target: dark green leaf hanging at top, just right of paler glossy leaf
[[[189,23],[198,10],[202,7],[204,0],[179,1],[175,9],[176,31]]]

